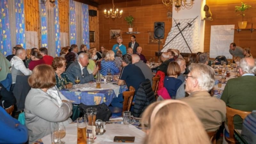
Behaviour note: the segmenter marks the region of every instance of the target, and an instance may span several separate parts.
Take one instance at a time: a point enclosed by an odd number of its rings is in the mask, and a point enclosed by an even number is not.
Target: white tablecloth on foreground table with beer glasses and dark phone
[[[77,124],[69,124],[66,126],[66,136],[61,139],[65,141],[65,144],[76,144],[77,142]],[[105,127],[106,126],[106,127]],[[94,140],[94,144],[111,144],[117,143],[114,142],[115,136],[134,136],[135,141],[134,143],[130,144],[141,144],[143,143],[143,139],[145,137],[145,133],[136,128],[133,125],[124,125],[124,124],[107,124],[104,125],[106,132],[103,135],[97,135],[96,139]],[[44,144],[51,144],[51,135],[47,135],[42,138]],[[118,142],[120,143],[120,142]],[[129,143],[125,143],[129,144]]]

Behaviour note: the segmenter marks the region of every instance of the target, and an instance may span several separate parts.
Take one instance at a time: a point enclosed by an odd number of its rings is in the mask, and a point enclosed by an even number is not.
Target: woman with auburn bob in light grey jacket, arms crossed
[[[55,73],[51,66],[41,64],[33,69],[28,77],[31,89],[25,100],[25,122],[28,128],[29,143],[42,139],[59,124],[72,122],[72,104],[57,87]]]

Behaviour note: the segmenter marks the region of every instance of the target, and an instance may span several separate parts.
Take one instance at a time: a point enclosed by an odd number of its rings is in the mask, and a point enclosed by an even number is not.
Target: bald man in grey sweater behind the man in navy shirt
[[[146,79],[150,80],[152,86],[152,70],[148,67],[148,65],[146,65],[144,62],[140,60],[140,56],[138,54],[132,54],[132,64],[141,69],[143,75],[145,76]]]

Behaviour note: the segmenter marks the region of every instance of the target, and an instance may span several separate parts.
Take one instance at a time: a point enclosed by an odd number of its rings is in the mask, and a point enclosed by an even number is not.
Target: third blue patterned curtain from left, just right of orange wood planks
[[[39,0],[41,2],[41,0]],[[47,19],[46,19],[46,7],[44,4],[40,4],[40,21],[41,21],[41,46],[48,47],[47,39]]]

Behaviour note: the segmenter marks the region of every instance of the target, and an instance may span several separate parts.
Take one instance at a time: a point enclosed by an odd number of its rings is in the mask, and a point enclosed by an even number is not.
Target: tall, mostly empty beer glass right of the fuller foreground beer
[[[97,108],[89,107],[86,109],[86,115],[88,119],[88,125],[87,125],[87,143],[93,143],[94,142],[94,136],[95,136],[95,120],[96,120],[96,114],[97,114]]]

